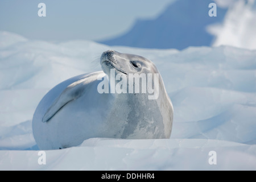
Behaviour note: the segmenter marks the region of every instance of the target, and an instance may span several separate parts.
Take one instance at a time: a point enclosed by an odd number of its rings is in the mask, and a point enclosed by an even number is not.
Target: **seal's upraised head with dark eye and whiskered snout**
[[[103,52],[100,63],[102,70],[108,76],[110,76],[110,69],[115,69],[116,73],[126,76],[129,73],[158,73],[154,63],[145,57],[113,50]]]

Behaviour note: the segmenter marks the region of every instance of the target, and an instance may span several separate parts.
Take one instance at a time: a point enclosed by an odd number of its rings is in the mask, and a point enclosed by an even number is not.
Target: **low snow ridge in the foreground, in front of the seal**
[[[209,164],[209,152],[217,164]],[[46,152],[0,151],[0,169],[13,170],[255,170],[256,146],[221,140],[86,140],[80,147]],[[4,165],[2,165],[4,164]]]

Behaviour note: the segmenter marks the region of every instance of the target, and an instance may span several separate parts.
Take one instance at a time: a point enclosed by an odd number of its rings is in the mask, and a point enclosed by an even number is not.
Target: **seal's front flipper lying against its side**
[[[86,78],[73,82],[60,94],[59,97],[53,102],[42,118],[42,122],[49,121],[62,107],[69,102],[79,98],[84,91],[84,84]]]

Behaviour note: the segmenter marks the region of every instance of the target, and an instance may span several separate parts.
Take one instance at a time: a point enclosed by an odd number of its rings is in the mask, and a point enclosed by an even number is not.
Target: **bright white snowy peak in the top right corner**
[[[228,45],[256,49],[256,1],[237,0],[230,8],[221,25],[208,27],[216,36],[213,46]]]

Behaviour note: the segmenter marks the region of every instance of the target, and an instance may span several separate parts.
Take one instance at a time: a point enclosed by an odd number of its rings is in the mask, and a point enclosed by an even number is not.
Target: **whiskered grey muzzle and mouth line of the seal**
[[[114,59],[113,54],[114,54],[113,51],[104,52],[101,56],[101,65],[106,65],[109,69],[115,69],[118,72],[121,72],[127,75],[127,73],[121,71],[116,67],[117,61]]]

